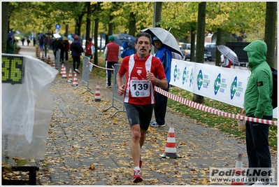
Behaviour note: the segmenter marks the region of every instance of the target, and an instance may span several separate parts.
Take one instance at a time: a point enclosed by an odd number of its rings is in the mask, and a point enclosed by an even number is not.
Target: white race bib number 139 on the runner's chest
[[[149,97],[150,81],[131,81],[132,97]]]

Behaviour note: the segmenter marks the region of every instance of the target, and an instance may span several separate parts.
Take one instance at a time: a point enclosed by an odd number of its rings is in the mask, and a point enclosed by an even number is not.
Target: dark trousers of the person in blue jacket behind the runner
[[[169,92],[169,83],[168,88],[166,88],[167,92]],[[165,124],[166,117],[166,104],[168,103],[168,97],[156,92],[155,93],[155,106],[154,106],[154,114],[155,119],[158,125]]]

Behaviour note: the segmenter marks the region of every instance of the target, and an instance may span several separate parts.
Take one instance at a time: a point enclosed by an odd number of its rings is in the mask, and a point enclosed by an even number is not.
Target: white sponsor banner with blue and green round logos
[[[196,95],[243,108],[249,76],[249,70],[173,59],[170,84]],[[275,111],[277,108],[273,110],[273,118],[277,118]]]

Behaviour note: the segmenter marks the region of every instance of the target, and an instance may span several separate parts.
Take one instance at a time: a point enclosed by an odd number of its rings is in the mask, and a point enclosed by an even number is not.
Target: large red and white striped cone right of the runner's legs
[[[176,154],[176,135],[174,134],[174,125],[173,122],[169,127],[168,138],[166,139],[166,148],[164,154],[160,155],[162,158],[167,156],[170,158],[178,158]]]

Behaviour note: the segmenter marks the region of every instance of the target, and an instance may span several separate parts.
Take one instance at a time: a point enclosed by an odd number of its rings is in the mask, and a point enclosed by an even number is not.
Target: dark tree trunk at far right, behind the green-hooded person
[[[264,41],[267,46],[266,62],[270,67],[275,67],[275,49],[276,49],[276,11],[277,2],[266,2],[266,25],[264,32]]]

